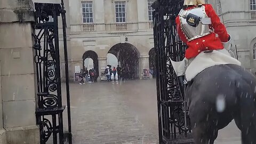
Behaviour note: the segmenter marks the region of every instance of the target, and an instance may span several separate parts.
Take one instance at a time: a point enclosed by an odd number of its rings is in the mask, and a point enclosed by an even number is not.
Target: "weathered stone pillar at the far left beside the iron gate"
[[[0,0],[0,143],[39,143],[33,21],[31,0]]]

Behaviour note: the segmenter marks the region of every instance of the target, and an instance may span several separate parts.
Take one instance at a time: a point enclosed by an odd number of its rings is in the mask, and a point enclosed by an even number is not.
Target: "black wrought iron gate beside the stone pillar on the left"
[[[71,140],[68,61],[66,41],[66,17],[62,4],[35,3],[34,61],[37,75],[37,109],[36,121],[40,126],[40,142],[52,139],[54,144],[64,143],[62,113],[60,50],[58,17],[62,16],[63,45],[65,55],[66,89],[68,105],[69,143]],[[52,143],[52,142],[51,142]]]

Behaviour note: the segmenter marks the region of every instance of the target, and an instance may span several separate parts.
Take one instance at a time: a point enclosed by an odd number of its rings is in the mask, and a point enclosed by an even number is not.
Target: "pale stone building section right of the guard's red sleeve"
[[[225,23],[237,47],[238,60],[253,74],[256,71],[256,1],[214,0],[208,1]]]

